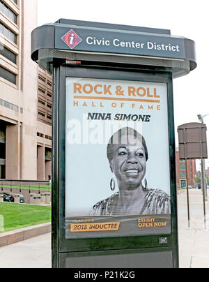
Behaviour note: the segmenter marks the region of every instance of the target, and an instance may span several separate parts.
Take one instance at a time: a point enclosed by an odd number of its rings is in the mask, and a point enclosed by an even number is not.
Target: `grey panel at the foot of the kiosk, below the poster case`
[[[59,253],[56,267],[71,269],[176,268],[177,249],[171,247]]]

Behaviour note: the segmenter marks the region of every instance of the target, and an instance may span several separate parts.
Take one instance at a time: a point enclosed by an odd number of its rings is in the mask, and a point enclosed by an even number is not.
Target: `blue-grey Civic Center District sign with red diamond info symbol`
[[[66,29],[56,32],[57,48],[62,50],[77,50],[91,52],[109,52],[137,55],[153,55],[156,57],[185,58],[183,38],[169,38],[167,36],[150,36],[125,34],[109,31],[87,31],[86,29]],[[62,38],[63,41],[60,40]]]

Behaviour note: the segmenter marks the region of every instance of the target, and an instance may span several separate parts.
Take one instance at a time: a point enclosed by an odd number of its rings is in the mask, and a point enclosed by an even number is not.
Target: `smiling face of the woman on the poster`
[[[141,140],[128,135],[128,138],[122,138],[121,144],[112,146],[113,159],[110,167],[116,175],[119,188],[139,186],[146,174],[146,154]]]

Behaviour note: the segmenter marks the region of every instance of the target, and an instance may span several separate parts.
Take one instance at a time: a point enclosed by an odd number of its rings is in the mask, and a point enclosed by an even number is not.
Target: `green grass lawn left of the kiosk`
[[[47,223],[51,221],[51,213],[51,207],[0,202],[0,219],[2,221],[3,218],[3,232]],[[2,222],[0,225],[2,226]],[[0,233],[2,233],[1,229]]]

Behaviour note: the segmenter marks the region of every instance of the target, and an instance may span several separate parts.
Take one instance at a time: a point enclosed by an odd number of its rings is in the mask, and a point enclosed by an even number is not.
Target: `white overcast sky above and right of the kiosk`
[[[173,80],[176,146],[178,146],[177,127],[189,122],[199,122],[197,114],[209,114],[207,2],[206,0],[38,0],[38,25],[67,18],[170,29],[173,36],[194,40],[197,68],[189,75]],[[209,115],[204,118],[204,122],[209,128]],[[209,141],[209,131],[207,134]],[[209,167],[209,160],[206,160],[207,166]]]

